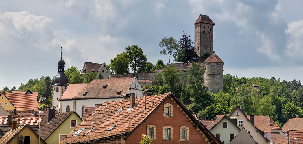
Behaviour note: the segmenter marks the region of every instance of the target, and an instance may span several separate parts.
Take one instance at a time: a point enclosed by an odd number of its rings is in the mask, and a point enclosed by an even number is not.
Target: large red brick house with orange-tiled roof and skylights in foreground
[[[60,143],[221,143],[171,92],[106,101]]]

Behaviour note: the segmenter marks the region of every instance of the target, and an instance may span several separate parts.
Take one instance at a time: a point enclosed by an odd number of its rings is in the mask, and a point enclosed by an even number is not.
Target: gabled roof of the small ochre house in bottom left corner
[[[33,130],[33,128],[31,126],[29,126],[28,124],[26,124],[25,126],[21,126],[16,128],[15,130],[10,130],[8,131],[8,133],[6,133],[2,138],[1,138],[1,143],[10,143],[16,136],[18,136],[19,133],[22,132],[22,130],[24,130],[26,127],[28,127],[29,129],[32,130],[32,132],[34,134],[36,134],[37,137],[39,137],[39,135],[35,132],[35,130]],[[46,143],[43,139],[41,139],[41,141],[43,143]]]

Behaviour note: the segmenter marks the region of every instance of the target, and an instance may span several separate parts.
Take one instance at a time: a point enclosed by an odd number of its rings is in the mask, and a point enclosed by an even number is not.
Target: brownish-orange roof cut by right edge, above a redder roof
[[[303,118],[294,118],[289,119],[284,126],[282,127],[283,132],[287,132],[289,130],[303,130]]]

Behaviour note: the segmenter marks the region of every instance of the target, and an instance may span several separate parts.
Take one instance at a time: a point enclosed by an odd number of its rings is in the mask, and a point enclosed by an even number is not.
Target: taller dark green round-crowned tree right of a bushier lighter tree
[[[125,51],[129,65],[134,73],[137,72],[138,68],[145,66],[147,63],[147,58],[144,55],[143,50],[138,45],[127,46]]]

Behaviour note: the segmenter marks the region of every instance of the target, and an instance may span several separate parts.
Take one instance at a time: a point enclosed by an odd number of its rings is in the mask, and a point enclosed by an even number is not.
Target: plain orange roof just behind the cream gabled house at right
[[[246,116],[250,120],[250,116]],[[262,132],[271,132],[268,116],[254,116],[255,126]]]

